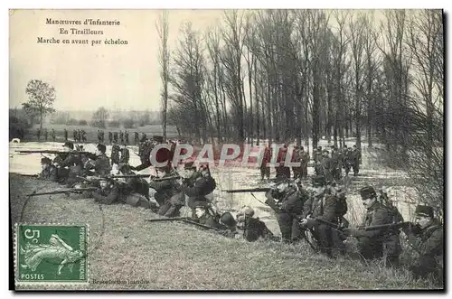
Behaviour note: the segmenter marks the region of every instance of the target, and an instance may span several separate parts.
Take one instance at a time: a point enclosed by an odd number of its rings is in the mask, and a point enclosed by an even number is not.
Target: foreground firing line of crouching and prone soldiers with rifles
[[[163,142],[163,138],[155,139],[149,143],[148,139],[143,138],[143,146]],[[155,167],[157,175],[151,176],[147,182],[135,173],[151,166],[149,157],[146,157],[146,148],[145,154],[141,153],[142,164],[132,166],[128,164],[126,155],[121,160],[122,155],[119,154],[118,160],[112,151],[111,159],[108,158],[106,146],[102,144],[97,145],[95,154],[75,151],[70,142],[64,147],[66,153],[57,155],[53,161],[42,159],[40,177],[60,181],[71,187],[95,188],[84,191],[80,195],[83,198],[94,198],[102,204],[127,203],[145,207],[168,220],[180,217],[181,208],[188,206],[192,222],[214,229],[223,236],[245,238],[248,241],[264,238],[287,243],[306,240],[315,250],[331,258],[345,255],[347,243],[354,238],[358,242],[361,257],[382,258],[386,266],[395,267],[400,266],[400,234],[403,232],[411,247],[419,254],[417,262],[410,266],[414,276],[440,276],[438,269],[443,260],[443,227],[435,219],[433,209],[419,205],[415,223],[405,222],[387,194],[376,192],[372,186],[359,191],[367,212],[363,226],[352,228],[344,218],[348,210],[345,192],[341,186],[328,181],[325,173],[315,174],[311,178],[311,185],[301,180],[306,177],[304,166],[300,171],[297,170],[299,174],[296,180],[278,176],[275,184],[265,191],[265,204],[275,212],[281,231],[281,238],[277,238],[263,221],[254,217],[252,208],[243,207],[234,217],[231,212],[221,212],[216,207],[212,195],[216,182],[208,164],[200,164],[197,168],[193,162],[186,163],[181,174],[171,165],[172,150],[162,148],[157,152],[156,160],[169,163],[165,167]],[[308,161],[304,149],[300,147],[298,150],[301,159]],[[161,151],[163,154],[159,157]],[[323,157],[328,158],[331,159],[329,156]],[[114,176],[110,174],[112,164],[118,164],[118,173]],[[281,169],[278,171],[285,172]],[[304,182],[303,185],[301,182]],[[149,196],[150,189],[155,191],[153,196]]]

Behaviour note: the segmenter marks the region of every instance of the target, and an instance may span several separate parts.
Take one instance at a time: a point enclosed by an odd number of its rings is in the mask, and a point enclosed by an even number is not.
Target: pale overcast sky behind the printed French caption
[[[16,10],[10,15],[10,107],[28,100],[30,79],[50,83],[57,93],[56,109],[94,110],[99,106],[119,109],[160,109],[159,38],[155,21],[158,10]],[[169,12],[170,47],[174,49],[179,28],[191,21],[193,29],[206,29],[221,18],[220,10],[172,10]],[[118,20],[119,26],[46,24],[54,20]],[[60,28],[101,30],[103,35],[60,34]],[[45,44],[37,38],[94,39],[100,45]],[[106,45],[106,39],[127,40],[127,45]]]

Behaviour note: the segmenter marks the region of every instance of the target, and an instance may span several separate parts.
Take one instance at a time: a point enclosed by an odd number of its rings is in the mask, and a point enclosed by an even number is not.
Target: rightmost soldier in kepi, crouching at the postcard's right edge
[[[419,253],[415,265],[410,266],[410,271],[416,278],[433,274],[440,280],[444,268],[443,226],[434,218],[432,207],[418,205],[415,214],[415,224],[410,223],[403,228],[411,247]]]

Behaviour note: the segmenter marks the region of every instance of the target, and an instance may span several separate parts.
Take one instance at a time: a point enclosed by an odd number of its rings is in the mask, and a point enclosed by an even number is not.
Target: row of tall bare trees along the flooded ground
[[[230,10],[205,32],[187,22],[171,60],[161,39],[168,121],[198,142],[378,138],[441,201],[443,33],[440,10]]]

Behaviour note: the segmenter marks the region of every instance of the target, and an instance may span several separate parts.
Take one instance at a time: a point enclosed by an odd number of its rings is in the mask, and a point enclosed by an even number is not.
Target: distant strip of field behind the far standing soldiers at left
[[[34,125],[32,129],[30,129],[29,134],[25,135],[25,141],[38,141],[38,136],[36,135],[36,131],[39,128],[39,125]],[[52,129],[55,130],[56,133],[56,141],[61,142],[64,141],[64,129],[68,130],[68,138],[69,139],[73,139],[73,130],[85,130],[85,132],[87,133],[87,141],[90,143],[97,143],[98,142],[98,130],[100,129],[99,127],[94,127],[94,126],[67,126],[67,125],[49,125],[49,126],[42,126],[42,130],[44,128],[47,128],[47,131],[49,132],[48,135],[48,141],[52,141]],[[119,128],[119,127],[107,127],[105,129],[103,129],[103,131],[105,132],[105,140],[108,143],[108,131],[113,132],[118,132],[119,134],[119,130],[121,131],[125,131],[124,128]],[[133,144],[134,142],[134,132],[138,132],[140,134],[141,137],[141,133],[145,133],[148,136],[152,136],[152,135],[162,135],[163,129],[162,126],[160,125],[149,125],[149,126],[139,126],[139,127],[134,127],[131,129],[127,129],[128,131],[128,140],[130,144]],[[166,135],[168,138],[177,138],[177,131],[175,129],[175,126],[167,126],[166,128]],[[118,136],[119,138],[119,136]],[[41,133],[41,141],[44,140],[44,136],[43,133]]]

